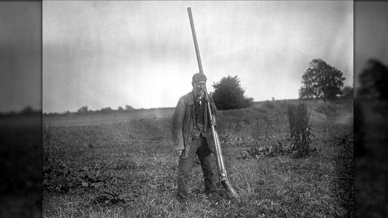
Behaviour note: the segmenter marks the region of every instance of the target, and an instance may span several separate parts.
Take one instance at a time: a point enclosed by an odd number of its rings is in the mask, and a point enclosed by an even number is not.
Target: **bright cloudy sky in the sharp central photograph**
[[[198,72],[297,99],[311,60],[353,84],[353,1],[43,1],[43,112],[175,107]]]

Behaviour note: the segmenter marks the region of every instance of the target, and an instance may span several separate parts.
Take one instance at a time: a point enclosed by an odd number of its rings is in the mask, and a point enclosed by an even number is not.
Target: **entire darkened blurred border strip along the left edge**
[[[0,1],[0,217],[42,217],[42,2]]]

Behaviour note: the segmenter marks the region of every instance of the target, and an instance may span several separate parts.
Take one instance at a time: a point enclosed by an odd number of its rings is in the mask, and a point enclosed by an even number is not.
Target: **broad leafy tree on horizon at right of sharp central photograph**
[[[334,100],[337,94],[341,94],[345,78],[343,73],[328,65],[322,59],[314,59],[302,76],[302,87],[299,90],[299,97],[322,98]]]

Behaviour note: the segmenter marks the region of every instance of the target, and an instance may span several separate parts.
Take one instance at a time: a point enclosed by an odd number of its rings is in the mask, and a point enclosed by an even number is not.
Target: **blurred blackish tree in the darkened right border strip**
[[[388,67],[380,61],[371,59],[367,62],[360,76],[358,98],[388,100]]]

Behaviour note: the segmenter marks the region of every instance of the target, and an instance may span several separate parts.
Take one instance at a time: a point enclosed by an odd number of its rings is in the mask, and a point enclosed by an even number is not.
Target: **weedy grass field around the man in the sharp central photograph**
[[[174,109],[44,116],[43,217],[353,217],[353,102],[307,102],[315,135],[307,158],[289,149],[290,103],[218,111],[226,169],[241,202],[227,200],[220,183],[219,198],[208,199],[197,161],[191,200],[177,201]]]

